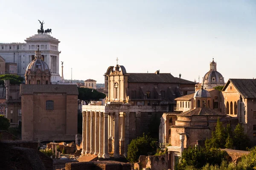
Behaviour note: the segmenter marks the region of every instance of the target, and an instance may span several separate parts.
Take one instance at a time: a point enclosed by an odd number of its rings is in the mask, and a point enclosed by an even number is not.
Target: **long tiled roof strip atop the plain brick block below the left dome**
[[[77,85],[20,85],[20,95],[34,93],[66,93],[78,95]]]

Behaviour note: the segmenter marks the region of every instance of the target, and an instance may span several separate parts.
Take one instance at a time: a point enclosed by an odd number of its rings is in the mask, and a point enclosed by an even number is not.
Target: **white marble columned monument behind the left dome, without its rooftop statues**
[[[26,68],[35,59],[35,50],[39,45],[42,60],[49,66],[52,82],[61,82],[59,74],[58,44],[60,41],[49,34],[35,34],[26,38],[25,43],[0,43],[0,56],[7,63],[17,64],[17,75],[24,77]]]

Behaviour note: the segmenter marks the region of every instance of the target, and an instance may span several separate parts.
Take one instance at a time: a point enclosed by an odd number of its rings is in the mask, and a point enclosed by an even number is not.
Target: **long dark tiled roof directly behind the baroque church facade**
[[[195,82],[173,77],[170,73],[128,73],[128,82],[159,82],[159,83],[182,83],[195,84]]]

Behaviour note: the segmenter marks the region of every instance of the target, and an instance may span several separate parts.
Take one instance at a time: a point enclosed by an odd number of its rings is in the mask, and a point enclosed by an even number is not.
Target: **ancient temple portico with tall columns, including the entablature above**
[[[141,116],[148,117],[151,116],[148,113],[167,109],[166,105],[132,106],[119,102],[104,106],[83,105],[82,154],[103,158],[108,158],[108,153],[113,153],[114,157],[127,156],[129,142],[141,135],[140,130],[136,130],[142,128]]]

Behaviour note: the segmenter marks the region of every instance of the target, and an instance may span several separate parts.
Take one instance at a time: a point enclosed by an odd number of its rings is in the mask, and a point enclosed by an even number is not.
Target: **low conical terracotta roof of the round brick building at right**
[[[225,116],[225,114],[211,108],[194,108],[183,112],[178,116]]]

